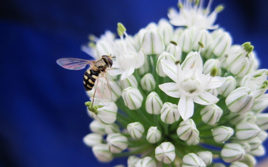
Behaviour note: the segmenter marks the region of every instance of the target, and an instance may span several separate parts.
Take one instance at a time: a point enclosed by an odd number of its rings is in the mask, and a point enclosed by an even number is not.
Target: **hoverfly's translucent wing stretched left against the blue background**
[[[92,60],[83,60],[75,58],[61,58],[57,60],[58,65],[69,70],[81,70],[86,67],[86,65],[93,63]]]

